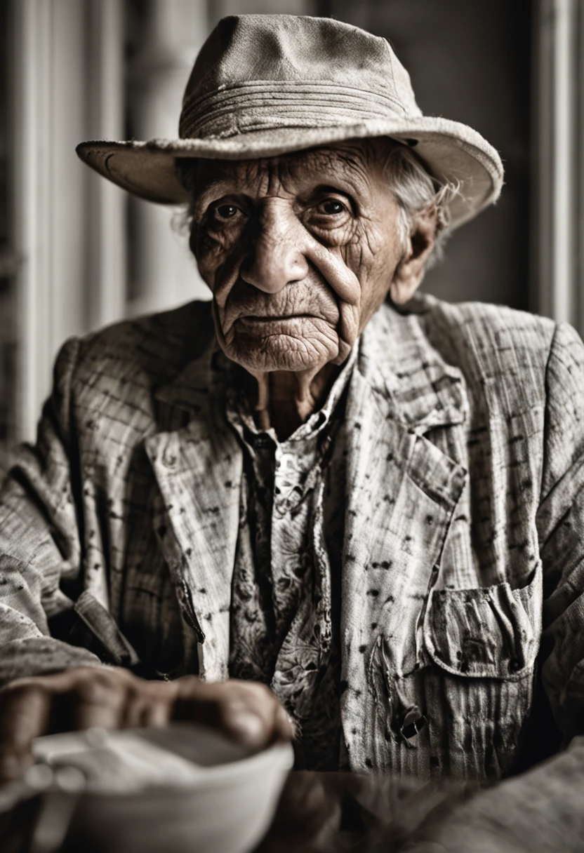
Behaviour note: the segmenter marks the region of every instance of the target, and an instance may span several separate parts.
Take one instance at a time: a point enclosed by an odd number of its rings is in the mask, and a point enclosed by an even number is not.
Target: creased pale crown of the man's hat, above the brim
[[[421,114],[386,39],[330,18],[230,15],[196,58],[179,133],[354,124],[359,112],[361,119]]]

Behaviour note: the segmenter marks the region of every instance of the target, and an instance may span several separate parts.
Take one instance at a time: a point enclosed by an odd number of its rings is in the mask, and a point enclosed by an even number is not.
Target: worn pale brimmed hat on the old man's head
[[[467,125],[424,116],[384,38],[328,18],[231,15],[196,58],[178,139],[82,142],[81,160],[131,193],[180,204],[176,160],[252,160],[347,139],[391,136],[436,178],[460,184],[451,227],[497,200],[499,154]]]

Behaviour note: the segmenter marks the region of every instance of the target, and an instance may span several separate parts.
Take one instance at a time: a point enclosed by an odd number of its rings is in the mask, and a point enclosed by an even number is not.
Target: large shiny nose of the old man
[[[276,200],[274,200],[276,202]],[[279,200],[278,200],[279,201]],[[302,252],[303,227],[285,204],[266,205],[258,217],[240,276],[264,293],[278,293],[308,272]]]

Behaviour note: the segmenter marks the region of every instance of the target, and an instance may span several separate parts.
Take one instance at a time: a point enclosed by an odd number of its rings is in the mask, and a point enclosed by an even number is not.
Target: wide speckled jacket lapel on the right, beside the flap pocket
[[[424,662],[423,608],[466,478],[425,433],[462,428],[465,400],[462,375],[418,318],[385,307],[372,318],[347,400],[342,723],[353,769],[382,760],[376,697],[367,694],[379,643],[388,640],[383,677]]]

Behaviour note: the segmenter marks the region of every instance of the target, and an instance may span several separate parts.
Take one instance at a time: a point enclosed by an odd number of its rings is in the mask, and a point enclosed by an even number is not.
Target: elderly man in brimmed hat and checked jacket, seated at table
[[[418,779],[552,751],[529,746],[546,703],[568,744],[581,340],[412,299],[497,199],[498,154],[423,116],[383,39],[288,16],[219,23],[180,137],[78,149],[188,204],[213,299],[61,351],[1,495],[3,775],[55,707],[258,745],[294,724],[307,768]]]

